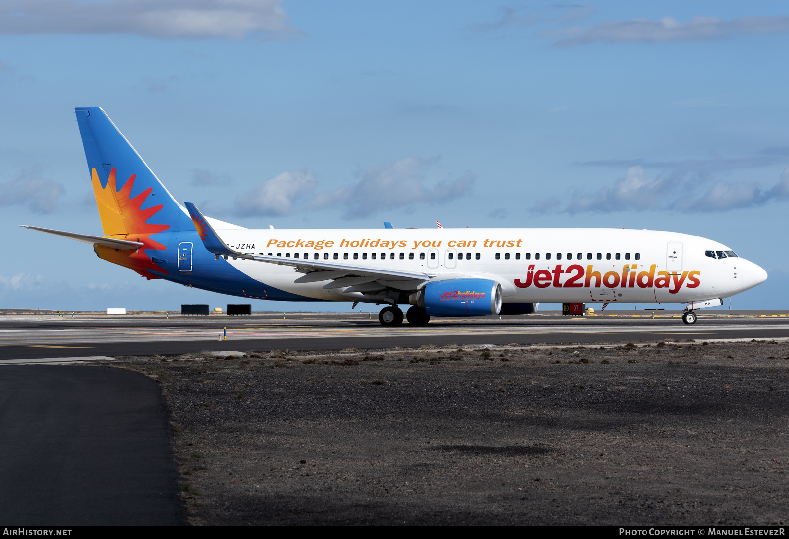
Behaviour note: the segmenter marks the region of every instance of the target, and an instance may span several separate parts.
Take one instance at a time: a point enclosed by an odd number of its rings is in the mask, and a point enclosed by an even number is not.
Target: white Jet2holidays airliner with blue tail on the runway
[[[77,109],[103,236],[99,258],[148,279],[233,296],[385,305],[383,325],[530,314],[538,303],[686,303],[761,284],[764,269],[713,240],[627,229],[245,229],[181,206],[99,107]]]

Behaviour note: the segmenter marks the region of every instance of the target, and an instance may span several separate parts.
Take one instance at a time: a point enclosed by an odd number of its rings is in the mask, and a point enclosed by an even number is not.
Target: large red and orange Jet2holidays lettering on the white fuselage
[[[622,273],[609,271],[600,273],[594,271],[591,264],[583,266],[572,264],[567,269],[562,269],[561,264],[556,264],[552,270],[538,269],[534,271],[534,264],[529,264],[526,271],[526,280],[515,279],[518,288],[668,288],[668,292],[676,294],[685,284],[687,288],[697,288],[701,281],[698,276],[700,271],[683,271],[682,273],[667,271],[655,272],[657,265],[649,266],[649,271],[638,271],[635,266],[624,266]],[[562,275],[564,274],[564,280]],[[564,282],[562,282],[564,281]]]

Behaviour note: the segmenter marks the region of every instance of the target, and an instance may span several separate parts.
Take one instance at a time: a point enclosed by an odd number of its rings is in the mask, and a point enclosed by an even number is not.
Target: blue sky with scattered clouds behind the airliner
[[[787,45],[783,2],[8,0],[0,307],[237,301],[17,228],[101,233],[73,113],[101,106],[226,221],[675,230],[767,269],[735,308],[787,308]]]

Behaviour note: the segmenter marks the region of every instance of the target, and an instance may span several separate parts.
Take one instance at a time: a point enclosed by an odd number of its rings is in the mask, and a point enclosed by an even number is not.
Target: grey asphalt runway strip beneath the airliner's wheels
[[[634,310],[583,318],[552,313],[500,319],[434,318],[424,327],[404,323],[397,328],[381,326],[376,313],[169,318],[163,314],[77,314],[74,318],[4,315],[0,317],[0,362],[51,357],[177,355],[205,350],[776,338],[789,338],[789,311],[701,311],[695,325],[683,324],[679,311]]]

